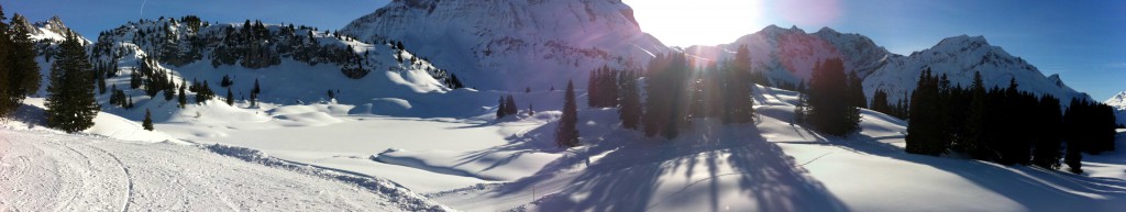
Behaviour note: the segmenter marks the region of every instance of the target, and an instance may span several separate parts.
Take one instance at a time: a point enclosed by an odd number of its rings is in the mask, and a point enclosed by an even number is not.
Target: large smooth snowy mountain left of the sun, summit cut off
[[[468,87],[502,90],[582,87],[597,67],[668,51],[620,0],[394,0],[341,33],[402,42]]]

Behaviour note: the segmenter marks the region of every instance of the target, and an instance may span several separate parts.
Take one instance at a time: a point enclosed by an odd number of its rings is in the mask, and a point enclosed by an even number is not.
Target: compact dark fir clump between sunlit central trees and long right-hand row
[[[806,97],[798,104],[797,121],[819,132],[842,136],[859,130],[865,97],[855,74],[844,74],[844,62],[829,59],[814,65]],[[803,117],[804,116],[804,117]]]

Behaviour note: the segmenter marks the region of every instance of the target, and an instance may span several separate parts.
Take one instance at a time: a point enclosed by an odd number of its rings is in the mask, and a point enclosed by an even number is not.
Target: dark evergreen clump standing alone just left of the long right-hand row
[[[808,122],[817,131],[837,136],[859,129],[860,111],[850,103],[844,62],[829,59],[817,65],[810,82]]]

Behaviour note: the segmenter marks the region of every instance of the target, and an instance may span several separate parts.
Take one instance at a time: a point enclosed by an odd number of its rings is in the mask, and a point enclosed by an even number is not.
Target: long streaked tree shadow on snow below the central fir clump
[[[690,211],[848,211],[753,125],[694,127],[671,141],[604,141],[504,185],[497,195],[575,175],[558,193],[538,201],[538,206],[549,211],[653,211],[686,205]],[[636,132],[618,133],[638,136]],[[602,153],[580,173],[566,173]],[[705,205],[707,207],[692,207]]]

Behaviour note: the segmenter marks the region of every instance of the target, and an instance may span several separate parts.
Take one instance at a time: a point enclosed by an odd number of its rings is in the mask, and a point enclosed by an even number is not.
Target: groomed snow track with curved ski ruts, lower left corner
[[[409,196],[194,145],[2,127],[0,134],[0,211],[426,210],[399,203]]]

